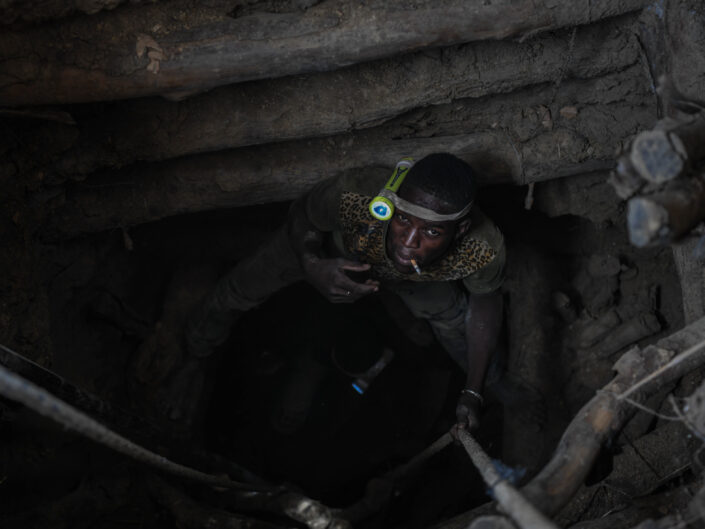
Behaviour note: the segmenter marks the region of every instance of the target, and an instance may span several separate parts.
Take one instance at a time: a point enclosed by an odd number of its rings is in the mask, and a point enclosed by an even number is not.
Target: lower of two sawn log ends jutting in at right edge
[[[627,203],[630,242],[639,248],[680,239],[705,218],[704,177],[681,178],[662,192]]]

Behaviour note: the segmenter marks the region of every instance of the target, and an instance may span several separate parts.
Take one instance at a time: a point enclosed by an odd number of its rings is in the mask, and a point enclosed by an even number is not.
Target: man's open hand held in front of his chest
[[[379,282],[372,279],[358,283],[345,273],[366,272],[371,266],[339,257],[321,259],[312,257],[304,260],[303,269],[306,280],[332,303],[352,303],[358,299],[377,292]]]

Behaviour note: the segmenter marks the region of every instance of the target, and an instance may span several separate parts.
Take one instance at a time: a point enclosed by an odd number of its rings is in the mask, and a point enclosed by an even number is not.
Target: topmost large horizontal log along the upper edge
[[[123,7],[0,36],[0,105],[193,93],[423,48],[588,24],[648,4],[444,0],[408,9],[403,0],[327,0],[304,13],[240,18],[217,8],[189,10],[183,2]]]

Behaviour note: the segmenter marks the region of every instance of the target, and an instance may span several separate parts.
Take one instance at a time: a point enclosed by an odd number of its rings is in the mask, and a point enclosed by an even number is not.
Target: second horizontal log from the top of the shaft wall
[[[340,134],[416,107],[589,79],[638,61],[633,17],[525,42],[476,42],[354,65],[336,72],[241,83],[173,102],[142,98],[79,109],[81,137],[63,173],[87,174],[235,147]],[[573,39],[573,36],[575,37]],[[315,108],[315,112],[302,109]]]

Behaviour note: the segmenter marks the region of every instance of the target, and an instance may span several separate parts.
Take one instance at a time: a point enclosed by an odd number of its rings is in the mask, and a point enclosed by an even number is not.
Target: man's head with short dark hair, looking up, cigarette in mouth
[[[475,200],[473,169],[447,153],[430,154],[409,170],[400,198],[440,214],[461,211]],[[389,221],[387,255],[402,273],[412,273],[411,259],[421,268],[441,259],[470,228],[466,215],[458,220],[430,221],[397,209]]]

